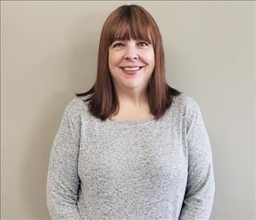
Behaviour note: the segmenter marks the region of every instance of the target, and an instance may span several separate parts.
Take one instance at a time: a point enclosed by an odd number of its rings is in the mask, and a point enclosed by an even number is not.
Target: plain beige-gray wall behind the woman
[[[1,219],[50,219],[51,144],[67,103],[92,87],[103,22],[122,4],[153,15],[169,85],[200,105],[211,219],[255,219],[254,1],[1,1]]]

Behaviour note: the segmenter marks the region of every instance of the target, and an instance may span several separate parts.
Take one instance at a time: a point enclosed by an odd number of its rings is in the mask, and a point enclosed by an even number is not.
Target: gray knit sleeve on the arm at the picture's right
[[[206,220],[211,216],[215,191],[211,144],[197,102],[187,111],[188,179],[179,220]]]

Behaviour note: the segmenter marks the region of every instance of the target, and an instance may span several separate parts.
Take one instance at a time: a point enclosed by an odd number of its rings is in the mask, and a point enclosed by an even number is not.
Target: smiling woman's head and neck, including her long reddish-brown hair
[[[136,69],[124,69],[135,67]],[[139,69],[138,69],[139,67]],[[124,5],[103,24],[97,80],[89,91],[89,111],[100,120],[159,120],[181,92],[165,80],[164,48],[156,21],[139,5]]]

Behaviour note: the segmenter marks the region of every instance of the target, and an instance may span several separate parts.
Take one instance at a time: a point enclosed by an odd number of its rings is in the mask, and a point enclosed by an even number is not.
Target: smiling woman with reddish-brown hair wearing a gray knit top
[[[197,102],[165,81],[161,33],[138,5],[111,12],[94,86],[51,149],[52,219],[209,219],[211,144]]]

